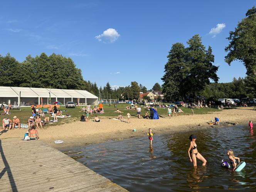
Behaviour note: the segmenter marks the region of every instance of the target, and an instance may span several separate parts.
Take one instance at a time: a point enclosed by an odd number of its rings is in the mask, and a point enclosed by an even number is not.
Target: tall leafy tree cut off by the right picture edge
[[[229,45],[225,61],[230,65],[240,60],[247,69],[246,86],[256,95],[256,7],[249,9],[246,17],[237,24],[234,31],[229,32]]]

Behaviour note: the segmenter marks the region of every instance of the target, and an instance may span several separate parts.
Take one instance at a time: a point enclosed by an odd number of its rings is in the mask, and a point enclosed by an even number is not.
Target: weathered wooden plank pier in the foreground
[[[0,140],[0,192],[127,191],[42,141]]]

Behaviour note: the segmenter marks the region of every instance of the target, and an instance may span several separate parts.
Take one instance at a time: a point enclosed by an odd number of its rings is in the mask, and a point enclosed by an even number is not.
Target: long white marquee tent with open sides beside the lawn
[[[32,104],[52,104],[55,101],[59,101],[63,105],[68,101],[79,105],[97,105],[98,97],[85,90],[0,86],[0,103],[30,106]]]

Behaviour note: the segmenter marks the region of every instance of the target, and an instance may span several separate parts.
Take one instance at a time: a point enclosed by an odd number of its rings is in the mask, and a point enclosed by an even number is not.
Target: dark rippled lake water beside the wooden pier
[[[145,136],[62,152],[131,192],[256,191],[255,132],[248,126],[235,126],[154,134],[152,147]],[[206,167],[199,160],[197,168],[189,162],[187,149],[191,134],[197,135],[198,151],[207,160]],[[241,172],[221,167],[221,160],[228,159],[229,148],[246,162]]]

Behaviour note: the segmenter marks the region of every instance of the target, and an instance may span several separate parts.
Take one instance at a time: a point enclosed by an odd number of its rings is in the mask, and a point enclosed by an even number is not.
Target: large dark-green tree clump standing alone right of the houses
[[[189,47],[182,43],[172,45],[168,62],[165,64],[163,80],[163,93],[166,100],[186,100],[191,95],[195,98],[205,89],[210,80],[217,82],[218,67],[214,66],[214,55],[209,46],[208,50],[202,45],[199,35],[194,35],[188,40]]]

